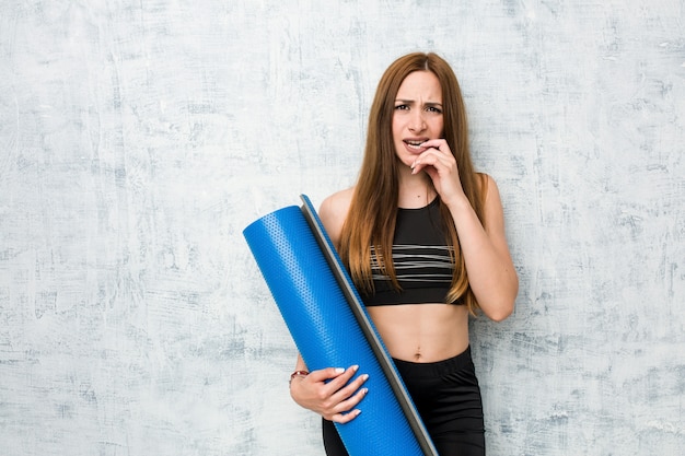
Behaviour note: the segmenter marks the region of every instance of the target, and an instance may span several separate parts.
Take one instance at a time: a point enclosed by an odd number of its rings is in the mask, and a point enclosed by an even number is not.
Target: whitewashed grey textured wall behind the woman
[[[411,50],[460,75],[521,278],[472,325],[489,454],[682,454],[684,10],[2,1],[2,454],[322,454],[242,230],[353,182]]]

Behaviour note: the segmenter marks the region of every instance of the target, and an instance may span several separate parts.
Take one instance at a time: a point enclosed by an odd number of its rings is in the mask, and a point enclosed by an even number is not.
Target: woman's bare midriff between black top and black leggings
[[[402,304],[367,307],[391,356],[432,363],[468,348],[468,311],[454,304]]]

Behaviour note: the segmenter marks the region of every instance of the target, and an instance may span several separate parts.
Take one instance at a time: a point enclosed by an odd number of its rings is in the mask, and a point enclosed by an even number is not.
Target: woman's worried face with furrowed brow
[[[436,74],[414,71],[399,85],[393,112],[393,141],[402,163],[411,166],[427,148],[420,144],[442,138],[442,89]]]

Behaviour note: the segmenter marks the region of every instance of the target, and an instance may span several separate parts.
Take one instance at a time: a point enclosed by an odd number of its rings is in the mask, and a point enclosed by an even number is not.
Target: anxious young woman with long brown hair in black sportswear
[[[357,185],[320,217],[441,456],[485,455],[468,318],[513,311],[519,281],[491,177],[474,171],[466,113],[450,66],[410,54],[383,74]],[[367,376],[306,372],[290,393],[324,418],[329,456],[347,455],[333,422],[353,420]],[[360,405],[360,408],[357,406]]]

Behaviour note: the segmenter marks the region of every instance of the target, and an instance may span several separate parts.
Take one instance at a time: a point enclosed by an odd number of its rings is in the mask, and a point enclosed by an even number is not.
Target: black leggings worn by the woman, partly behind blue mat
[[[483,402],[471,348],[436,363],[394,361],[438,454],[485,456]],[[323,435],[327,456],[348,456],[333,422],[323,420]]]

